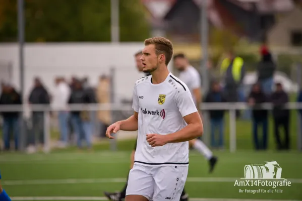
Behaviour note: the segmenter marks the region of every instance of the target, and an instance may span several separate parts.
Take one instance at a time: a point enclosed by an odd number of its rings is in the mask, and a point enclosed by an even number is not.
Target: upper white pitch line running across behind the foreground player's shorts
[[[228,177],[188,177],[187,182],[235,182],[245,181],[240,178]],[[287,179],[292,183],[302,183],[302,179]],[[78,183],[122,183],[126,178],[86,178],[86,179],[36,179],[36,180],[7,180],[4,185],[46,185],[46,184],[78,184]]]

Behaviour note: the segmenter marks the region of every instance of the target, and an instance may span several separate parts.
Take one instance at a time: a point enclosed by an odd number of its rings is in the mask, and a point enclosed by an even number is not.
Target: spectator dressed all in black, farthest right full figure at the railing
[[[285,104],[288,103],[288,95],[283,90],[282,84],[276,84],[276,91],[271,95],[273,103],[273,118],[277,149],[289,149],[289,110],[285,109]],[[284,128],[285,142],[281,142],[279,129]]]

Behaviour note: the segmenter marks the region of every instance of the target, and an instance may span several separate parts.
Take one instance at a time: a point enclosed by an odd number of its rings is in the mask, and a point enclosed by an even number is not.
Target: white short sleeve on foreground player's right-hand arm
[[[183,117],[197,112],[197,108],[194,104],[192,95],[188,90],[184,91],[181,94],[177,94],[176,105]]]

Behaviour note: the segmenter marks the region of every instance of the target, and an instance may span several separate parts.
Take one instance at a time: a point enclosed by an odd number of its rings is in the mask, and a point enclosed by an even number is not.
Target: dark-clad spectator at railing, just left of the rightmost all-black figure
[[[253,136],[256,150],[267,149],[267,130],[268,130],[268,111],[262,109],[260,104],[267,103],[268,97],[262,91],[259,83],[252,87],[252,91],[248,98],[249,105],[253,107]],[[262,142],[258,138],[258,126],[262,126]]]

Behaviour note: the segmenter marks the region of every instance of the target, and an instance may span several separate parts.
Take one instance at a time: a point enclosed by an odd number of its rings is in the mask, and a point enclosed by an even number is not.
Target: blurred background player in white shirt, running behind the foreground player
[[[185,82],[192,93],[194,103],[199,110],[200,104],[202,102],[201,95],[201,79],[199,72],[190,65],[188,59],[184,54],[176,54],[173,57],[174,66],[179,70],[178,78]],[[201,114],[201,112],[199,111]],[[199,139],[194,139],[189,142],[190,147],[197,149],[201,154],[203,154],[210,165],[210,173],[213,171],[216,163],[217,157],[213,156],[212,151]]]

